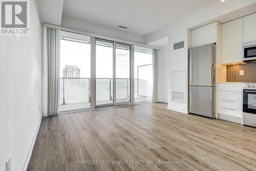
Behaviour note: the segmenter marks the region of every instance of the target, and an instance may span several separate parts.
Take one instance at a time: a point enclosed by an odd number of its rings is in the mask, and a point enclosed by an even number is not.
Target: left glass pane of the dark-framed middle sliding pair
[[[96,106],[113,105],[113,47],[96,39]]]

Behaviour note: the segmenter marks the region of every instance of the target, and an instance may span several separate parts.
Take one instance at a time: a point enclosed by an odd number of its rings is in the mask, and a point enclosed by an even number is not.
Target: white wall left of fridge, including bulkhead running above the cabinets
[[[245,8],[246,6],[256,3],[255,0],[233,0],[225,1],[225,3],[216,3],[208,8],[205,8],[197,13],[190,15],[183,20],[171,24],[151,35],[145,37],[145,44],[156,41],[161,37],[168,36],[168,73],[172,71],[186,71],[185,102],[175,102],[170,100],[170,92],[172,91],[170,79],[168,79],[168,109],[188,113],[188,79],[187,79],[187,66],[188,66],[188,48],[190,47],[190,33],[188,29],[197,25],[209,24],[214,22],[218,17],[228,14],[234,10]],[[246,10],[244,10],[246,12]],[[256,12],[256,11],[255,11]],[[185,48],[173,50],[173,44],[179,41],[185,41]],[[168,77],[170,78],[170,76]]]

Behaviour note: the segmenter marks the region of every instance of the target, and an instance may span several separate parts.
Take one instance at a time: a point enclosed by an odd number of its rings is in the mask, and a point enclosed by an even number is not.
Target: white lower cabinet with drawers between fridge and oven
[[[217,84],[217,113],[219,119],[242,123],[242,83]]]

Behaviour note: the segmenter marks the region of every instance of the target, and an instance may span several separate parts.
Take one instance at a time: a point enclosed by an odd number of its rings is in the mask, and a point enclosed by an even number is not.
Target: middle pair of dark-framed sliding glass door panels
[[[129,45],[96,39],[96,106],[131,101],[130,61]]]

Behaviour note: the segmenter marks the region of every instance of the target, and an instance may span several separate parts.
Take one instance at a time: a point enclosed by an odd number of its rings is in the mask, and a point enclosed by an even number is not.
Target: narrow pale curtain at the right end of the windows
[[[158,50],[153,50],[153,95],[152,101],[158,101]]]

